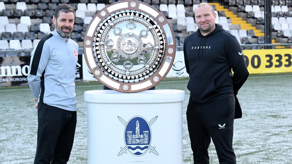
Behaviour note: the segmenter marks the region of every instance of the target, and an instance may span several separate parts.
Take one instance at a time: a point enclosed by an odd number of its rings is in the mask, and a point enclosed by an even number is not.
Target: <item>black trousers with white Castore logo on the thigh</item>
[[[236,164],[232,148],[234,106],[234,96],[209,104],[188,104],[187,126],[194,164],[209,164],[211,138],[219,163]]]

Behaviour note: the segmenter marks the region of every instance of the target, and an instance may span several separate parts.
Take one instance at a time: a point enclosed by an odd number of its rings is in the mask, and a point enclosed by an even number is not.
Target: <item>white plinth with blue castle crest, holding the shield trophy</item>
[[[90,90],[88,164],[183,163],[183,90]]]

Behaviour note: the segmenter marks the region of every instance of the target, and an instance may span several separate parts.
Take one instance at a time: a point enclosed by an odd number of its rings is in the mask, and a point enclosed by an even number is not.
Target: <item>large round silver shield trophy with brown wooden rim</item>
[[[171,69],[175,37],[156,8],[133,0],[99,11],[84,36],[86,63],[102,84],[125,93],[152,88]]]

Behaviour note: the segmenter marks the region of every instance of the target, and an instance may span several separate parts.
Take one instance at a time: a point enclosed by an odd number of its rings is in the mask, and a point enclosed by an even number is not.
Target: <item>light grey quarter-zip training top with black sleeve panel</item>
[[[33,96],[40,103],[76,111],[74,79],[78,44],[53,31],[32,51],[27,77]]]

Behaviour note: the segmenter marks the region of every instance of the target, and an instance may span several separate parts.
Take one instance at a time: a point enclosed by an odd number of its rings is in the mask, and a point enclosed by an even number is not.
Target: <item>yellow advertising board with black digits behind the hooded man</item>
[[[292,49],[243,50],[250,74],[292,72]]]

